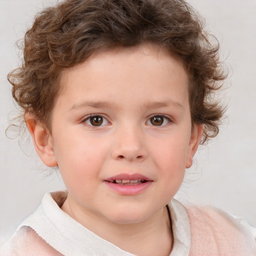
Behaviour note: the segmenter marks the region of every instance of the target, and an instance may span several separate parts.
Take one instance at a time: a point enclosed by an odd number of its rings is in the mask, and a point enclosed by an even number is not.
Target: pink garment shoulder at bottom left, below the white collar
[[[47,244],[36,232],[22,226],[0,247],[0,256],[61,256],[61,254]]]

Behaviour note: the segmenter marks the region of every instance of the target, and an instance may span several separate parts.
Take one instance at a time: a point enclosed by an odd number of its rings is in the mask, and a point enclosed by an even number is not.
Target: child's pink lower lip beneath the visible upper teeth
[[[147,189],[151,184],[152,181],[146,181],[144,183],[140,183],[138,185],[118,185],[116,183],[111,183],[105,181],[106,185],[110,187],[110,189],[114,190],[115,192],[122,194],[122,195],[135,195],[139,194],[145,189]]]

